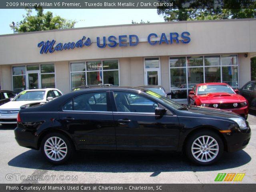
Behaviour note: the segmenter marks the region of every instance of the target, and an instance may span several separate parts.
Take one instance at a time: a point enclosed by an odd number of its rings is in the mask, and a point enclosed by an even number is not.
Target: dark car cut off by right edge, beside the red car
[[[256,110],[256,81],[247,82],[239,89],[239,94],[249,102],[249,107]]]

